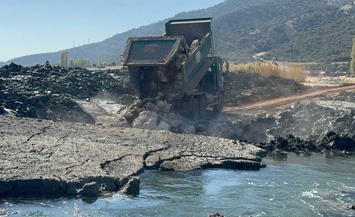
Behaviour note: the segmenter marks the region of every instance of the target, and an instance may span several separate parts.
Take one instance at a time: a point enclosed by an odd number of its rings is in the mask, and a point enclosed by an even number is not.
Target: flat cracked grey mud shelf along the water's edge
[[[144,169],[258,170],[264,151],[199,135],[0,118],[0,195],[139,192]]]

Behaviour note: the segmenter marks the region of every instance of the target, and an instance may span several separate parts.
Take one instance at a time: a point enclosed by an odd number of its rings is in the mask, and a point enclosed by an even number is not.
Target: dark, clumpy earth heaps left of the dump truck
[[[77,103],[110,96],[132,101],[128,70],[64,68],[50,65],[23,67],[15,63],[0,68],[0,114],[13,113],[68,122],[94,123]]]

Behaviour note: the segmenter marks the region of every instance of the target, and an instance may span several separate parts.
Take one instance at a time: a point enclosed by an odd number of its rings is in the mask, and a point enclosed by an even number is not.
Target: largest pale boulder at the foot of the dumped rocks
[[[155,130],[157,127],[158,115],[153,111],[143,111],[132,122],[133,128],[143,128],[147,130]]]

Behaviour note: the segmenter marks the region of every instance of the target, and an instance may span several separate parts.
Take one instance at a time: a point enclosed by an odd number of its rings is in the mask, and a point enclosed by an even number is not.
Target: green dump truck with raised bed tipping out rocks
[[[222,111],[222,59],[214,56],[212,18],[171,20],[158,37],[128,38],[123,64],[140,99],[161,96],[179,113]]]

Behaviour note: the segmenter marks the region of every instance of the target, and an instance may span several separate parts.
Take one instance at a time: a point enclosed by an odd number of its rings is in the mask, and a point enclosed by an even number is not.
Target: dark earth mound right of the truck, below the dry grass
[[[311,88],[291,79],[260,76],[244,71],[225,73],[224,84],[224,100],[232,105],[290,96]]]

